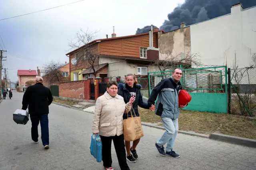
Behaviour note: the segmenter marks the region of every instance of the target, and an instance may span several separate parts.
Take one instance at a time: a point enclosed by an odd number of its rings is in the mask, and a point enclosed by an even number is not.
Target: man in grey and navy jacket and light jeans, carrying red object
[[[184,108],[188,105],[188,103],[185,106],[178,105],[178,94],[182,89],[181,77],[182,70],[179,68],[174,69],[170,78],[163,79],[154,87],[148,99],[148,105],[154,105],[158,97],[155,113],[161,117],[163,126],[166,129],[161,138],[156,142],[156,148],[160,155],[166,156],[167,154],[174,158],[180,158],[180,155],[172,150],[178,134],[179,108]],[[164,152],[163,145],[166,143],[166,152]]]

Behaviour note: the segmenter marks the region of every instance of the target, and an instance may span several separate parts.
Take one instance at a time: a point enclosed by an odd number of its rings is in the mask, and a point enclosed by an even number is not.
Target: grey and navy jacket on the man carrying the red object
[[[182,90],[182,85],[174,83],[172,77],[163,79],[154,87],[148,99],[148,105],[154,104],[156,99],[156,115],[177,119],[180,115],[178,95]]]

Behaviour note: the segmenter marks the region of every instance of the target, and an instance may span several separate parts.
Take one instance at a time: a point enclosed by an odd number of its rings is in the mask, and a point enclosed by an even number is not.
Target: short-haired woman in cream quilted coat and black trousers
[[[130,170],[126,163],[124,148],[123,114],[131,110],[134,97],[131,97],[130,101],[125,104],[124,98],[118,95],[117,92],[117,82],[108,82],[107,91],[96,101],[92,132],[100,134],[104,168],[113,170],[111,158],[111,143],[113,140],[121,170]]]

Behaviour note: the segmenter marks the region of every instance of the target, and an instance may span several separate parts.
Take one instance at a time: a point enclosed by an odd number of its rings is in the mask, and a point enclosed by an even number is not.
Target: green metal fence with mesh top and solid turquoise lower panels
[[[227,113],[227,67],[200,65],[182,69],[182,88],[186,89],[192,100],[185,108],[193,111],[212,113]],[[149,93],[162,79],[170,78],[172,71],[157,71],[148,73]]]

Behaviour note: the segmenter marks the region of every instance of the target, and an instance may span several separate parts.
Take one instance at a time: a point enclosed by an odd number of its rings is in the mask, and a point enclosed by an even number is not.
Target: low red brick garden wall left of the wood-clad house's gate
[[[59,95],[60,97],[70,97],[73,99],[86,99],[84,97],[85,81],[67,81],[60,82]],[[90,87],[89,87],[90,88]]]

